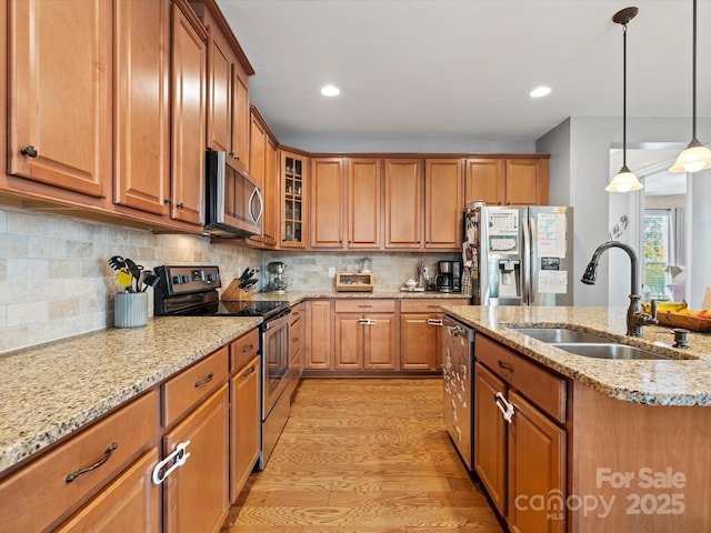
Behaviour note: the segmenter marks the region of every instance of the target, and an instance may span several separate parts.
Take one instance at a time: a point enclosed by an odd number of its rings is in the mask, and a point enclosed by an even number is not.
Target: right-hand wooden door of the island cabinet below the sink
[[[558,428],[515,392],[509,426],[509,515],[512,532],[565,531],[565,431]],[[559,509],[541,510],[531,497],[545,503],[560,501]]]

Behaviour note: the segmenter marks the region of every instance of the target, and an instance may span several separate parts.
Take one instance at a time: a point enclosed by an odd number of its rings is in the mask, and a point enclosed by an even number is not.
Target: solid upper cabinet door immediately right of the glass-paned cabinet
[[[311,160],[311,248],[343,247],[343,160]]]

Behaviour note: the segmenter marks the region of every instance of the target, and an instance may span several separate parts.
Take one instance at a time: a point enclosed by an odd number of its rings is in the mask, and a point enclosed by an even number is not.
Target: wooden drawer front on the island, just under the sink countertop
[[[477,360],[559,422],[565,422],[565,380],[484,335],[474,341]]]

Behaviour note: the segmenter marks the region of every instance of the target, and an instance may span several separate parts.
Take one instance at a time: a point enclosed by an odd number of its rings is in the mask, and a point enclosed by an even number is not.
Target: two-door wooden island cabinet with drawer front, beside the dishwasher
[[[567,492],[567,382],[477,335],[474,469],[510,531],[563,532],[565,509],[531,497]]]

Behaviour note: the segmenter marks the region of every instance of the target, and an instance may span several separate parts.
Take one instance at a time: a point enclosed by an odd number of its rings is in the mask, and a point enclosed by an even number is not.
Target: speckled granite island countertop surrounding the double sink
[[[623,308],[443,305],[448,314],[572,380],[618,400],[648,405],[711,406],[711,334],[690,333],[689,350],[671,348],[671,328],[627,336]],[[673,358],[603,360],[575,355],[508,326],[571,326]]]

